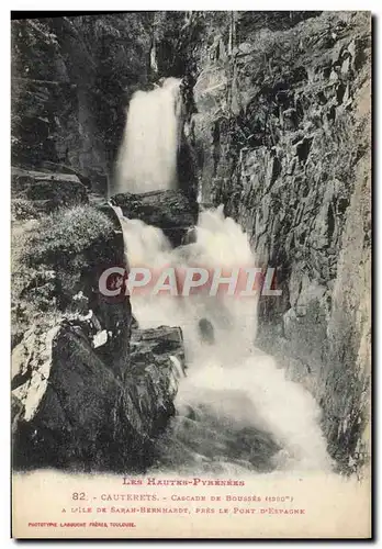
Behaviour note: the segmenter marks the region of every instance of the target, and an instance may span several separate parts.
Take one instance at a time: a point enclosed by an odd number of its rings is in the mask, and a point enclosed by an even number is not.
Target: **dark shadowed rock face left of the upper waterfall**
[[[147,85],[151,19],[12,21],[12,164],[112,172],[125,107]]]

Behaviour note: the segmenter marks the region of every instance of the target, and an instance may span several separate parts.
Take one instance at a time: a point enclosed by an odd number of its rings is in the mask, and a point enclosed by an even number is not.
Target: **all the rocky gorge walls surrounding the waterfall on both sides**
[[[119,220],[104,203],[125,107],[136,89],[175,76],[183,78],[187,104],[178,158],[187,197],[119,195],[113,203],[165,224],[175,244],[194,223],[196,182],[202,202],[224,203],[282,290],[260,300],[258,346],[321,403],[340,470],[359,469],[369,451],[370,58],[366,12],[136,12],[12,23],[21,467],[32,458],[46,464],[49,447],[47,464],[134,468],[149,460],[173,412],[181,334],[131,335],[128,300],[106,303],[94,288],[100,266],[125,265]],[[102,448],[110,445],[120,461],[108,461]]]

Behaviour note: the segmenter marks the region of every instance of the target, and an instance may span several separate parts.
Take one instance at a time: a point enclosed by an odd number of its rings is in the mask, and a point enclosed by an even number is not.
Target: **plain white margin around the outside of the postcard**
[[[80,5],[79,5],[80,4]],[[3,351],[2,354],[2,363],[1,363],[1,373],[2,373],[2,390],[3,390],[3,395],[0,399],[0,428],[1,428],[1,437],[0,437],[0,442],[1,442],[1,497],[0,497],[0,541],[2,542],[1,545],[9,546],[12,544],[12,541],[9,539],[10,536],[10,480],[9,480],[9,471],[10,471],[10,414],[9,414],[9,341],[10,341],[10,326],[9,326],[9,295],[10,295],[10,284],[9,284],[9,278],[10,278],[10,248],[9,248],[9,239],[10,239],[10,213],[9,213],[9,176],[10,176],[10,139],[9,139],[9,128],[10,128],[10,25],[9,25],[9,11],[10,10],[88,10],[88,11],[94,11],[94,10],[100,10],[100,11],[128,11],[128,10],[284,10],[285,9],[285,3],[281,1],[276,1],[276,0],[268,0],[267,2],[259,2],[259,1],[248,1],[248,0],[236,0],[235,2],[227,2],[224,0],[194,0],[193,2],[190,1],[181,1],[181,0],[164,0],[162,2],[154,2],[153,0],[141,0],[139,2],[128,2],[127,0],[109,0],[108,2],[100,1],[100,0],[82,0],[81,2],[78,2],[77,0],[66,0],[65,2],[55,2],[53,4],[52,0],[38,0],[33,1],[33,0],[13,0],[12,2],[5,2],[1,7],[1,33],[0,33],[0,41],[1,41],[1,47],[0,47],[0,53],[1,53],[1,79],[2,79],[2,86],[1,86],[1,105],[2,105],[2,124],[1,124],[1,200],[0,200],[0,208],[1,208],[1,214],[0,214],[0,223],[1,223],[1,246],[2,246],[2,256],[1,256],[1,269],[0,269],[0,282],[1,282],[1,290],[2,290],[2,306],[1,306],[1,325],[0,325],[0,337],[1,337],[1,350]],[[289,10],[370,10],[372,13],[380,19],[381,14],[381,2],[377,1],[371,1],[371,0],[364,0],[363,2],[360,1],[355,1],[355,0],[322,0],[319,4],[317,2],[313,2],[310,4],[306,4],[306,2],[303,1],[297,1],[293,0],[288,2],[288,9]],[[380,24],[380,21],[378,21],[378,24]],[[374,27],[374,31],[377,30],[377,25]],[[380,30],[380,35],[377,35],[375,37],[375,49],[377,53],[381,52],[381,30]],[[380,57],[380,56],[379,56]],[[382,182],[381,182],[381,171],[377,172],[377,160],[380,157],[381,158],[381,147],[380,143],[378,139],[378,130],[381,124],[381,110],[378,109],[378,97],[379,93],[377,93],[377,90],[381,90],[381,70],[377,72],[377,66],[382,66],[381,65],[381,59],[377,59],[377,55],[374,58],[374,90],[375,90],[375,102],[374,102],[374,109],[378,114],[378,119],[374,119],[374,189],[377,190],[379,188],[379,192],[377,193],[374,191],[374,221],[375,221],[375,232],[374,232],[374,242],[375,242],[375,247],[374,247],[374,260],[377,264],[377,258],[378,258],[378,265],[375,265],[375,278],[374,278],[374,288],[378,283],[377,281],[377,272],[381,273],[382,271],[382,254],[381,254],[381,247],[382,247],[382,235],[380,232],[380,226],[381,222],[379,221],[380,215],[377,214],[377,212],[382,212],[381,208],[381,201],[382,201]],[[7,82],[7,85],[5,85]],[[378,199],[378,200],[377,200]],[[382,298],[381,298],[381,292],[378,294],[378,301],[375,302],[374,305],[374,314],[378,316],[378,313],[381,311],[381,304],[382,304]],[[381,327],[381,322],[378,324],[378,330],[374,332],[374,340],[375,340],[375,361],[374,361],[374,368],[378,370],[379,363],[377,362],[377,358],[381,357],[380,352],[380,346],[382,341],[382,327]],[[378,374],[378,372],[377,372]],[[374,394],[375,394],[375,402],[374,402],[374,411],[377,412],[377,406],[378,406],[378,400],[379,395],[382,394],[382,377],[378,376],[377,380],[378,381],[378,386],[374,388]],[[377,418],[374,417],[374,421]],[[381,406],[378,406],[378,419],[379,424],[381,424]],[[378,446],[377,448],[377,456],[381,456],[381,447],[380,442],[378,440]],[[377,461],[377,460],[375,460]],[[375,463],[378,467],[378,463]],[[380,478],[380,474],[378,475]],[[378,483],[378,486],[375,486],[377,493],[379,494],[380,492],[380,483]],[[378,525],[382,524],[382,511],[381,511],[381,505],[377,506],[378,515],[375,516],[375,529],[378,531]],[[64,542],[60,544],[60,546],[66,546],[67,544],[74,544],[72,541],[70,542]],[[111,541],[104,541],[102,546],[111,546]],[[164,542],[166,544],[166,542]],[[164,545],[160,544],[160,545]],[[292,545],[293,541],[291,541],[289,545]],[[322,544],[318,545],[324,545],[327,544],[323,541]],[[348,545],[349,542],[340,542],[336,544],[337,547]],[[41,545],[36,542],[35,545]],[[136,547],[144,547],[148,544],[145,542],[134,542],[134,541],[128,541],[130,546],[136,546]],[[166,544],[167,545],[167,544]],[[183,545],[190,545],[190,544],[183,544]],[[205,545],[203,542],[199,542],[199,545]],[[233,542],[232,545],[236,545]],[[266,547],[269,544],[258,544],[260,546]],[[357,544],[358,547],[359,545],[366,546],[367,542],[361,542]],[[93,544],[91,541],[85,541],[81,542],[81,547],[92,547]],[[44,542],[43,547],[54,547],[54,542]]]

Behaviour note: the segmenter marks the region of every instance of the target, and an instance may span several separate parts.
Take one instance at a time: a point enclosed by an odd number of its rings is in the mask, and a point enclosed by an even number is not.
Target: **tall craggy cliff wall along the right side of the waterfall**
[[[321,401],[352,470],[370,374],[370,16],[313,15],[259,27],[238,14],[231,43],[203,44],[193,124],[203,201],[277,268],[258,344]]]

